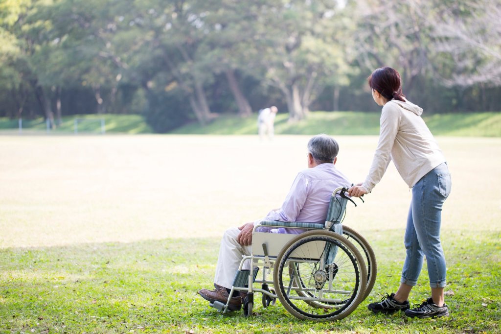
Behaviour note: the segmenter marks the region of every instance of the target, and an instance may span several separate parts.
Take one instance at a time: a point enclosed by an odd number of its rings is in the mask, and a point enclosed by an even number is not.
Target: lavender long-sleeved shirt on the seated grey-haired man
[[[333,163],[322,163],[299,172],[292,184],[284,204],[273,210],[262,220],[283,222],[324,223],[329,209],[332,192],[339,187],[349,186],[348,178],[336,169]],[[300,234],[304,229],[260,227],[258,232]]]

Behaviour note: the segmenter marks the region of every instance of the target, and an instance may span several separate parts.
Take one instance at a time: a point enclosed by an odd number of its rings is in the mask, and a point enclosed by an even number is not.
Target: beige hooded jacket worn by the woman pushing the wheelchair
[[[370,192],[381,181],[390,160],[412,188],[445,161],[442,151],[421,118],[423,109],[406,101],[388,101],[381,111],[379,142],[369,175],[362,186]]]

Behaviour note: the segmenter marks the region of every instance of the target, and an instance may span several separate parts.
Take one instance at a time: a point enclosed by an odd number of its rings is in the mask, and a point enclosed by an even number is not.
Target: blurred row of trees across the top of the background
[[[497,111],[500,35],[494,0],[0,0],[0,117],[372,111],[380,66],[427,112]]]

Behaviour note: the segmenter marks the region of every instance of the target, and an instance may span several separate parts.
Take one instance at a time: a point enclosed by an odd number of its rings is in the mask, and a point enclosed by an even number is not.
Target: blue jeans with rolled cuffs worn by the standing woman
[[[412,201],[404,245],[406,257],[401,283],[416,285],[426,256],[428,277],[432,288],[444,287],[445,256],[440,243],[442,205],[450,194],[451,179],[443,162],[422,177],[412,188]]]

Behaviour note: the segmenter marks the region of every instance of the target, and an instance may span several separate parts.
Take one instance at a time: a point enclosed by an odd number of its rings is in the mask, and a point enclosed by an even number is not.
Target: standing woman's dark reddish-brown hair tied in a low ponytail
[[[367,78],[371,89],[377,90],[385,99],[404,101],[405,95],[402,93],[402,81],[400,74],[391,67],[381,67]]]

